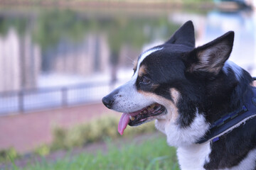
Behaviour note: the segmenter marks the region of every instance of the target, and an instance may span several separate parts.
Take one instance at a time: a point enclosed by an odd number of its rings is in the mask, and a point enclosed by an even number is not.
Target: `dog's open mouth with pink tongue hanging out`
[[[127,128],[127,125],[142,125],[142,123],[154,120],[156,115],[161,115],[162,113],[166,113],[166,108],[159,103],[151,104],[150,106],[133,113],[123,113],[119,120],[118,132],[122,135],[124,129]]]

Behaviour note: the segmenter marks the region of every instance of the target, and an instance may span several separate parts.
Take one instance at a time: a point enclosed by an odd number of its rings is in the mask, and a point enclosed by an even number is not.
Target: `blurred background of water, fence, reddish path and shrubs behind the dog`
[[[101,98],[132,77],[142,51],[168,40],[188,20],[196,46],[234,30],[230,60],[256,76],[253,0],[0,0],[0,168],[6,155],[36,148],[48,155],[106,134],[117,137],[121,115]],[[101,137],[82,134],[95,130],[88,124],[106,121]],[[79,125],[84,127],[75,131]]]

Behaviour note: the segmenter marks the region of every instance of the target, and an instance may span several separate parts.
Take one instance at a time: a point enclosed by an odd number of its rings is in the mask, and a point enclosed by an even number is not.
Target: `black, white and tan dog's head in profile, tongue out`
[[[132,79],[102,98],[107,108],[123,112],[119,133],[122,135],[127,125],[156,119],[157,129],[176,138],[176,142],[170,139],[170,145],[182,141],[178,136],[191,142],[200,138],[209,124],[204,110],[210,103],[205,100],[221,96],[215,90],[220,86],[218,79],[223,76],[233,38],[230,31],[195,48],[193,23],[188,21],[163,45],[143,52],[134,64]],[[190,136],[176,136],[186,134],[184,130],[190,130]]]

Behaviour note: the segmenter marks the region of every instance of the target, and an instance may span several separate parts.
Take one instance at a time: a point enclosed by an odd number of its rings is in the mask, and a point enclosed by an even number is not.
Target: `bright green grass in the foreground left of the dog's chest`
[[[96,154],[82,153],[71,157],[66,155],[55,162],[43,161],[29,164],[26,170],[82,170],[82,169],[178,169],[176,149],[166,145],[165,137],[156,137],[140,144],[123,144],[116,147],[115,142],[107,142],[108,152]],[[127,143],[127,142],[125,142]],[[15,165],[14,165],[15,166]],[[14,168],[18,169],[18,168]],[[18,169],[20,170],[20,169]]]

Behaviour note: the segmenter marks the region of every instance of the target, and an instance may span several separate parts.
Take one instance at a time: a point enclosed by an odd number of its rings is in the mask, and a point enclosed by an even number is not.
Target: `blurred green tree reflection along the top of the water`
[[[117,67],[119,62],[119,50],[122,45],[140,49],[146,42],[156,38],[168,39],[178,28],[169,22],[166,16],[151,17],[146,15],[134,16],[133,13],[105,13],[71,11],[69,9],[42,9],[33,19],[34,13],[27,15],[28,18],[14,16],[0,18],[0,33],[6,34],[10,27],[14,27],[20,35],[26,30],[32,29],[33,41],[41,46],[42,69],[50,68],[53,57],[50,55],[60,42],[80,43],[86,35],[99,36],[105,33],[110,45],[110,64]],[[98,39],[98,38],[97,38]]]

